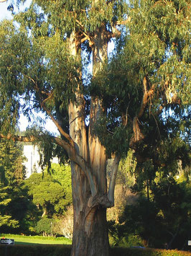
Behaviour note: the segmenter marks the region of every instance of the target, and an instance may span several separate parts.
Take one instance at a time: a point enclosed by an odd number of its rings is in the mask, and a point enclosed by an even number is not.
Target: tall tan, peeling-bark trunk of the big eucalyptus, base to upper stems
[[[93,75],[101,69],[107,56],[107,40],[101,45],[102,30],[95,34],[93,48]],[[71,53],[77,55],[78,43],[75,35],[70,37]],[[104,59],[105,58],[105,59]],[[79,79],[80,80],[80,79]],[[80,84],[75,92],[76,101],[70,102],[68,114],[70,137],[75,143],[76,152],[88,165],[88,173],[75,163],[71,164],[73,187],[73,256],[108,256],[108,229],[106,222],[107,183],[106,151],[95,135],[95,123],[103,115],[101,100],[91,98],[89,131],[85,128],[85,102],[80,93]]]

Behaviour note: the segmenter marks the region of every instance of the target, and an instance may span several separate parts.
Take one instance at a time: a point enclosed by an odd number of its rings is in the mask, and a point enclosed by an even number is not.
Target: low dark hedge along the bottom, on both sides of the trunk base
[[[71,245],[35,244],[0,245],[1,256],[70,256]],[[113,247],[110,256],[190,256],[191,252],[177,250]],[[99,256],[99,255],[98,255]]]

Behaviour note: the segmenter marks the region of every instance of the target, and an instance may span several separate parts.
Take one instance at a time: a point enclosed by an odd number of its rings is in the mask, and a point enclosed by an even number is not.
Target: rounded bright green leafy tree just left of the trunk
[[[34,173],[24,184],[32,202],[42,209],[43,215],[62,215],[72,203],[70,167],[52,164],[52,175]]]

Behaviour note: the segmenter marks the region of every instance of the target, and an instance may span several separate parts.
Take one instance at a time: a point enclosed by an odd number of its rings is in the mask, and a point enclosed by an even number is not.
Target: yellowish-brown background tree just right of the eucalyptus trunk
[[[118,166],[118,176],[116,177],[115,187],[115,206],[107,211],[108,231],[112,244],[123,244],[123,227],[119,224],[121,215],[128,204],[133,204],[136,194],[131,192],[131,187],[135,184],[134,172],[136,169],[136,158],[133,150],[129,150],[126,157],[121,159]],[[107,175],[111,175],[113,159],[108,159]]]

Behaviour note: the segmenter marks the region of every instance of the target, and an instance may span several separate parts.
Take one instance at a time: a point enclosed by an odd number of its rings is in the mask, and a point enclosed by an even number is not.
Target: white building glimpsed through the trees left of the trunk
[[[39,166],[39,151],[37,145],[24,145],[23,153],[27,158],[27,161],[24,162],[24,166],[26,167],[26,178],[29,178],[34,172],[42,172],[42,168]],[[55,157],[52,162],[58,164],[57,157]]]

